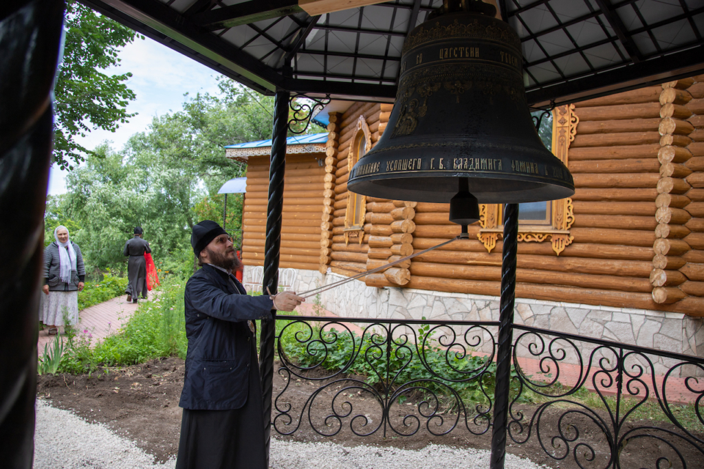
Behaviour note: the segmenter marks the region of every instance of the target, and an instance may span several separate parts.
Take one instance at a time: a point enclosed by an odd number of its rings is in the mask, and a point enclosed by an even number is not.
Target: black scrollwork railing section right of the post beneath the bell
[[[700,468],[704,465],[704,361],[653,349],[516,326],[508,434],[534,437],[555,461],[580,468]],[[686,370],[687,377],[678,377]],[[677,387],[679,387],[679,392]],[[532,394],[535,408],[520,404]],[[586,396],[586,399],[585,399]],[[685,408],[696,415],[686,424]],[[587,403],[587,404],[585,404]],[[664,424],[643,423],[648,406]],[[641,414],[641,415],[639,415]],[[696,429],[696,430],[693,430]],[[635,442],[640,440],[638,451]],[[643,451],[647,441],[650,451]]]

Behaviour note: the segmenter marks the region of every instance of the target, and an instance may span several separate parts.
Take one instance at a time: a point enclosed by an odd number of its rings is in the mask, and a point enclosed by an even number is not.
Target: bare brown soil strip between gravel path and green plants
[[[37,382],[37,396],[51,401],[52,405],[57,408],[73,411],[89,422],[108,425],[118,434],[132,439],[139,447],[152,454],[157,461],[165,461],[174,456],[178,448],[181,425],[181,408],[178,406],[178,402],[183,386],[183,376],[184,362],[182,360],[164,358],[127,368],[100,370],[90,376],[40,375]],[[306,406],[309,397],[320,385],[320,382],[311,383],[308,380],[299,380],[295,376],[287,380],[285,376],[275,373],[275,396],[286,388],[276,405],[279,409],[287,408],[287,404],[291,405],[291,425],[286,425],[285,415],[279,417],[275,422],[280,431],[289,432],[296,427],[301,409]],[[427,444],[433,443],[480,449],[490,448],[491,432],[480,436],[474,435],[467,430],[464,420],[460,420],[458,426],[446,435],[435,436],[431,434],[426,428],[427,420],[421,415],[424,411],[426,414],[428,412],[422,404],[420,406],[418,404],[418,401],[409,399],[403,404],[394,404],[389,410],[389,421],[398,432],[413,432],[417,423],[420,422],[420,430],[412,436],[399,436],[394,430],[387,427],[384,437],[384,427],[382,426],[372,436],[360,437],[351,431],[351,425],[358,433],[374,430],[379,426],[381,420],[381,406],[370,392],[353,387],[351,380],[338,381],[329,384],[316,394],[312,404],[306,407],[306,411],[303,413],[303,423],[291,436],[281,435],[273,430],[272,434],[276,439],[291,439],[299,442],[328,441],[345,446],[365,444],[422,449]],[[332,414],[333,405],[338,415],[350,414],[349,417],[341,419],[341,428],[337,426],[335,418],[328,418]],[[350,406],[352,406],[351,411]],[[310,408],[310,417],[308,408]],[[534,408],[524,407],[522,411],[524,415],[528,416],[528,420],[529,416],[534,414]],[[278,413],[279,411],[275,408],[273,415],[276,416]],[[509,439],[508,452],[553,468],[579,469],[580,466],[574,456],[565,454],[565,443],[552,439],[553,436],[559,434],[553,429],[559,425],[560,416],[563,414],[565,414],[565,409],[548,410],[543,413],[539,425],[542,444],[555,457],[546,454],[535,431],[524,444],[511,443]],[[353,419],[355,415],[365,415],[366,425],[363,425],[365,418]],[[416,415],[419,419],[408,418],[408,415]],[[450,429],[457,415],[448,412],[444,413],[442,417],[444,418],[442,425],[439,425],[439,420],[432,420],[429,423],[429,427],[434,433]],[[607,415],[601,417],[608,419]],[[313,430],[309,421],[313,422],[315,430],[318,432]],[[605,422],[607,421],[605,420]],[[645,424],[662,427],[663,430],[677,430],[669,424],[661,425],[648,422],[638,422],[638,424],[639,426]],[[608,426],[610,427],[610,424]],[[480,427],[472,425],[471,422],[469,427],[475,431],[480,430]],[[338,429],[339,432],[334,436],[327,437],[319,433],[332,434]],[[624,431],[627,430],[626,425]],[[598,430],[594,420],[577,412],[568,413],[562,417],[562,434],[565,439],[574,439],[577,431],[579,431],[579,439],[577,442],[569,442],[570,452],[577,449],[582,467],[604,468],[610,466],[606,438],[603,432]],[[698,437],[703,439],[704,435],[699,434]],[[579,443],[588,446],[580,446]],[[593,455],[589,448],[593,449]],[[678,444],[678,449],[684,450],[682,455],[687,461],[687,467],[704,468],[704,456],[695,448]],[[624,468],[656,467],[655,461],[661,456],[669,456],[673,468],[683,467],[672,449],[669,449],[665,442],[653,437],[629,439],[629,443],[622,449],[621,463]],[[593,461],[589,461],[592,457]]]

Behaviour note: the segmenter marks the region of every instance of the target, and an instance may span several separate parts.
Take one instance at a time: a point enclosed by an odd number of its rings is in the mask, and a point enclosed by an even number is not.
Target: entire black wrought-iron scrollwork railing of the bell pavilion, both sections
[[[324,437],[461,433],[486,446],[501,399],[498,327],[277,316],[284,382],[272,425]],[[509,442],[538,442],[580,468],[704,467],[704,359],[513,329]]]

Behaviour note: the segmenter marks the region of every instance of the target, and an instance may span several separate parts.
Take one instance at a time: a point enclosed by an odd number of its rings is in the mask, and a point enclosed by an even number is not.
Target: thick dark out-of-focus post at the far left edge
[[[0,8],[0,454],[11,469],[31,468],[34,454],[50,92],[63,10],[56,0]]]

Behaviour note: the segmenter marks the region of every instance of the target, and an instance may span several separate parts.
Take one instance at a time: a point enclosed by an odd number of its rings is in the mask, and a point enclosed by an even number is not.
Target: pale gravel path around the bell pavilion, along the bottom
[[[153,463],[133,442],[105,425],[87,423],[69,411],[37,401],[34,437],[36,469],[172,469],[175,461]],[[272,469],[418,469],[489,468],[489,451],[429,445],[420,451],[375,446],[348,448],[332,443],[272,441]],[[525,459],[506,457],[506,469],[541,469]]]

